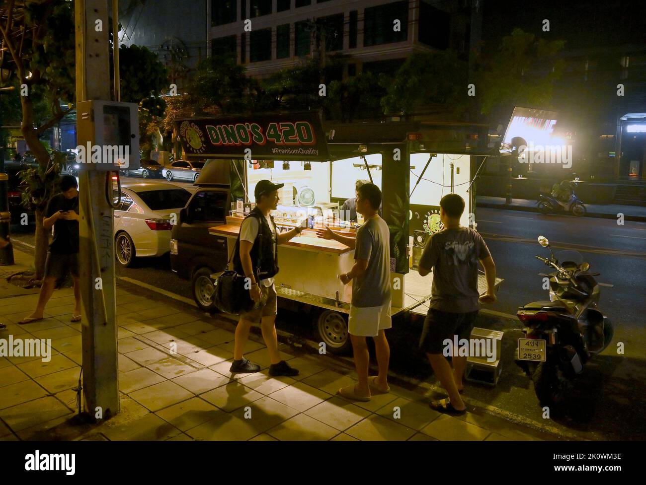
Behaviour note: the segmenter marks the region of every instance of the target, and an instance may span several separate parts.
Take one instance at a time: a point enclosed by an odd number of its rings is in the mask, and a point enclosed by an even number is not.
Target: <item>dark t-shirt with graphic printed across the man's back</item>
[[[478,261],[490,255],[485,240],[465,227],[444,229],[426,242],[419,266],[433,270],[430,308],[451,313],[475,312]]]

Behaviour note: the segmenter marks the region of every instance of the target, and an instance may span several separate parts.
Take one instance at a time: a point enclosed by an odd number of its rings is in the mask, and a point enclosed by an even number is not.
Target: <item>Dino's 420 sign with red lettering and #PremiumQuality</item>
[[[189,157],[328,160],[328,145],[315,112],[180,119],[176,123]]]

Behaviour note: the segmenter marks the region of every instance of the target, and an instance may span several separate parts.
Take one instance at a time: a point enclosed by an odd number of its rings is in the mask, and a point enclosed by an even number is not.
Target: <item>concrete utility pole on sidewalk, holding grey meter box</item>
[[[76,102],[110,100],[109,0],[76,0],[74,5]],[[118,33],[113,34],[118,48]],[[79,171],[83,390],[90,416],[104,419],[119,412],[114,226],[105,195],[110,175]]]

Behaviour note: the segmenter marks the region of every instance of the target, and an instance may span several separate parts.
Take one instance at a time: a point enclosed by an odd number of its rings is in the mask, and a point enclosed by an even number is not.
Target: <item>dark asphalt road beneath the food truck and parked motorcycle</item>
[[[182,186],[193,188],[191,184]],[[479,208],[476,215],[477,230],[485,237],[499,277],[505,279],[498,301],[487,307],[495,313],[481,312],[478,323],[505,332],[503,371],[495,387],[468,384],[465,395],[475,405],[489,406],[513,421],[537,423],[570,437],[646,439],[646,223],[618,226],[609,219],[490,208]],[[522,325],[514,317],[517,307],[548,299],[538,274],[548,268],[534,258],[549,254],[537,243],[539,235],[550,240],[555,252],[578,250],[590,263],[590,270],[601,273],[597,277],[603,284],[600,307],[615,328],[613,344],[587,364],[578,377],[569,415],[559,419],[543,417],[532,384],[513,362],[517,338],[522,337]],[[14,231],[12,237],[23,250],[33,246],[32,230]],[[117,276],[191,298],[189,282],[180,281],[171,272],[168,256],[140,259],[132,268],[118,265]],[[419,324],[393,322],[391,366],[413,382],[433,381],[428,364],[410,351],[412,342],[419,338]],[[316,339],[309,317],[302,313],[280,312],[278,328]],[[617,342],[625,346],[623,355],[618,354]]]

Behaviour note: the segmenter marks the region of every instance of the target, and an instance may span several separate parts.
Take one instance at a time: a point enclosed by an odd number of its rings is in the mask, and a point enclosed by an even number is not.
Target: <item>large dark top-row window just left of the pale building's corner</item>
[[[393,26],[399,20],[401,30]],[[371,6],[364,10],[364,46],[389,44],[408,39],[408,0]]]

